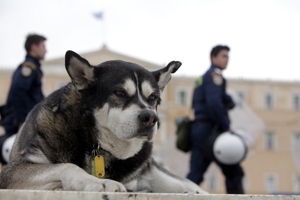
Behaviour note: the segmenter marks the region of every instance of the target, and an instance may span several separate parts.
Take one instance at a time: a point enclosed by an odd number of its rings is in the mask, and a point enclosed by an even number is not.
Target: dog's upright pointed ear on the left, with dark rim
[[[64,63],[65,69],[78,91],[87,88],[88,84],[95,81],[94,67],[74,51],[66,51]]]

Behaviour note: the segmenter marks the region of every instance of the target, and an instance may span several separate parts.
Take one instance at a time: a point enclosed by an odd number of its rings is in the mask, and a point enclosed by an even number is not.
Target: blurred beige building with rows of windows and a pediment
[[[80,53],[91,64],[122,59],[135,62],[148,70],[163,66],[109,50]],[[171,60],[170,60],[171,61]],[[64,56],[45,60],[43,92],[48,95],[66,84],[70,78],[64,68]],[[12,68],[0,67],[0,104],[4,104],[11,81]],[[191,106],[195,76],[174,75],[162,93],[158,106],[161,126],[155,138],[154,157],[171,172],[185,177],[189,153],[175,148],[175,123]],[[247,194],[300,193],[300,82],[255,79],[227,79],[227,88],[234,90],[265,124],[247,158],[242,162]],[[1,130],[2,131],[2,130]],[[210,193],[225,193],[224,178],[219,168],[211,164],[201,186]]]

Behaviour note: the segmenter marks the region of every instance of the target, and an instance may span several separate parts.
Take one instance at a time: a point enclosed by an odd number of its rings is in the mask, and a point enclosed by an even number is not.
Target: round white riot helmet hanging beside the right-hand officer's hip
[[[223,132],[218,135],[213,143],[213,155],[223,164],[237,164],[247,153],[244,139],[234,132]]]

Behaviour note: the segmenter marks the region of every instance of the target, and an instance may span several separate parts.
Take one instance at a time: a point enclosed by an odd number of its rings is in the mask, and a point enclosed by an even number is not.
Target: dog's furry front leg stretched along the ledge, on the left
[[[71,163],[8,163],[0,173],[0,188],[126,191],[120,182],[94,177]]]

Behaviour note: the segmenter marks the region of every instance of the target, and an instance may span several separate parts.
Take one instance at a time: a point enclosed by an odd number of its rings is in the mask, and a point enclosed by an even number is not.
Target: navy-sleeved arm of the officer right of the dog
[[[211,120],[219,124],[223,131],[228,130],[229,120],[222,100],[222,88],[224,81],[216,84],[211,76],[206,78],[205,81],[207,86],[204,88],[204,96],[205,102],[207,102],[209,116]]]

